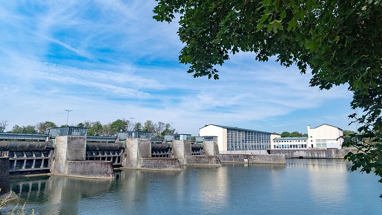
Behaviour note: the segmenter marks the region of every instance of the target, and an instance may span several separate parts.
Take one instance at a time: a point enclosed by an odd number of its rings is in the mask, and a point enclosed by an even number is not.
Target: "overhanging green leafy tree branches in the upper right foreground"
[[[381,0],[157,1],[156,20],[180,14],[179,60],[193,77],[218,79],[216,66],[243,51],[303,74],[310,68],[310,86],[321,90],[347,84],[362,115],[349,115],[361,126],[345,138],[344,147],[357,148],[346,158],[352,171],[382,177]]]

